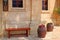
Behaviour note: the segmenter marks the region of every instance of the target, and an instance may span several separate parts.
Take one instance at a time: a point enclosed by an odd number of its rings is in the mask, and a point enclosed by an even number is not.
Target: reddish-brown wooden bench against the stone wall
[[[6,29],[6,31],[8,32],[8,38],[10,38],[11,35],[23,35],[23,34],[11,34],[10,33],[11,31],[26,31],[26,33],[24,33],[24,35],[26,35],[28,37],[30,28],[8,28],[8,29]]]

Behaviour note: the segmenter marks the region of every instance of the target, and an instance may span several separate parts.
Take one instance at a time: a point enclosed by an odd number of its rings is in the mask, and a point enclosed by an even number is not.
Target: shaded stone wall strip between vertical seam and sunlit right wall
[[[37,34],[37,28],[41,21],[41,0],[32,0],[31,33]],[[34,31],[34,32],[33,32]]]

